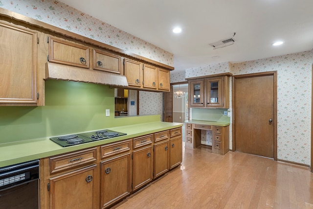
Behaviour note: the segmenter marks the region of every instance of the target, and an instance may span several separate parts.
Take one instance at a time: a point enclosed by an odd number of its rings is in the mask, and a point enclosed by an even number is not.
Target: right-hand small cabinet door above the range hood
[[[121,74],[121,57],[109,52],[93,49],[93,70]]]

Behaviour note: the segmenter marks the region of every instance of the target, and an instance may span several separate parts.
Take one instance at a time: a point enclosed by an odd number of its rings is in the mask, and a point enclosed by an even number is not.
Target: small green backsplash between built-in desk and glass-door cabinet
[[[192,108],[191,114],[193,120],[230,122],[230,117],[224,116],[224,111],[227,111],[227,109]]]

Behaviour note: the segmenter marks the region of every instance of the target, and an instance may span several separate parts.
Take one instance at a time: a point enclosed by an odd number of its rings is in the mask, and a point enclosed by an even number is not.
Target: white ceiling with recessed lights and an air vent
[[[61,1],[173,53],[175,70],[313,48],[313,0]],[[175,26],[180,34],[173,34]],[[233,45],[209,46],[234,32]],[[271,46],[277,40],[285,43]]]

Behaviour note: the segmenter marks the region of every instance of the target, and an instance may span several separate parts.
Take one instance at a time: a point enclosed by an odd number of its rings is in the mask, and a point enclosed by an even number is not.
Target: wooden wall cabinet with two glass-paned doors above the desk
[[[190,107],[228,109],[229,74],[190,79],[188,82]]]

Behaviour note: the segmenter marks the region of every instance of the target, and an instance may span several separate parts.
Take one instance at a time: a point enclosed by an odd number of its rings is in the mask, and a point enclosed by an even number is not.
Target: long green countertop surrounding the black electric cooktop
[[[181,127],[181,123],[170,123],[170,122],[149,122],[139,123],[135,125],[110,127],[110,130],[123,132],[127,135],[121,137],[115,137],[111,139],[99,140],[88,142],[84,144],[78,144],[68,147],[62,147],[49,138],[43,139],[31,139],[22,140],[12,143],[0,144],[0,167],[12,165],[16,163],[22,163],[35,159],[41,159],[53,155],[63,154],[75,150],[85,149],[93,146],[111,143],[123,139],[130,139],[146,134],[151,134],[159,131],[165,131],[173,128]],[[104,127],[103,129],[106,129]],[[93,130],[90,130],[93,131]],[[75,134],[75,133],[68,133]],[[76,133],[79,134],[79,133]],[[51,136],[56,137],[56,136]]]

